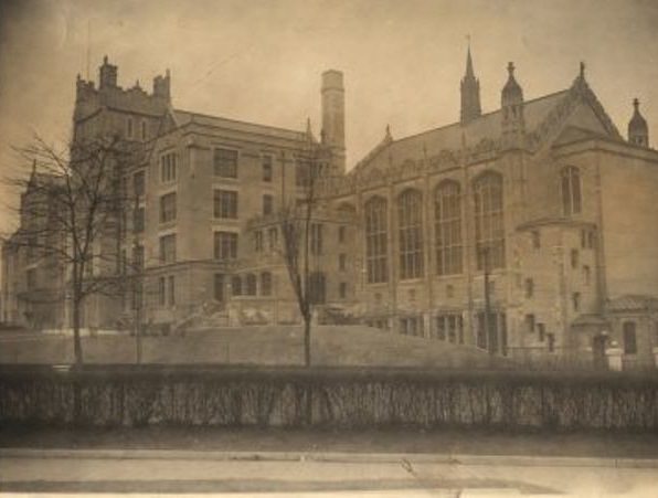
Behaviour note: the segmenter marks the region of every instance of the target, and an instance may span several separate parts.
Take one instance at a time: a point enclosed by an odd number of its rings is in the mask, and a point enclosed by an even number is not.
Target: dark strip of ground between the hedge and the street
[[[0,448],[202,452],[215,455],[414,455],[420,458],[477,456],[658,458],[658,434],[505,433],[484,430],[285,430],[226,427],[0,428]],[[134,453],[137,455],[138,453]],[[570,464],[571,465],[571,464]]]

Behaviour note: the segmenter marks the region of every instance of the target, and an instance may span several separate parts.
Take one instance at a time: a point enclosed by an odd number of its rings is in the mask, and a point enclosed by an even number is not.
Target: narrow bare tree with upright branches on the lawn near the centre
[[[310,336],[314,306],[318,301],[318,283],[310,271],[312,219],[320,203],[319,183],[326,166],[326,149],[309,140],[309,147],[297,173],[304,195],[288,201],[279,212],[283,236],[282,255],[297,306],[304,320],[304,364],[311,364]]]

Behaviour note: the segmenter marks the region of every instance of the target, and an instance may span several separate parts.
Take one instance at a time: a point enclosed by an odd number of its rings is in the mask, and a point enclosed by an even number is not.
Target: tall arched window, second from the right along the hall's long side
[[[460,188],[455,181],[444,181],[434,191],[436,273],[461,273],[461,205]]]

